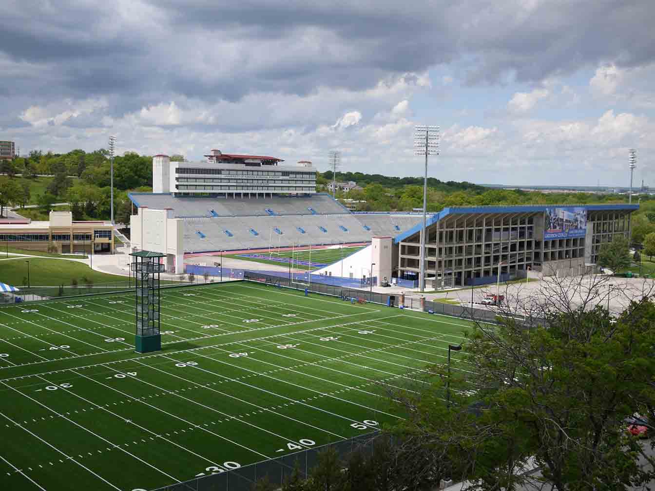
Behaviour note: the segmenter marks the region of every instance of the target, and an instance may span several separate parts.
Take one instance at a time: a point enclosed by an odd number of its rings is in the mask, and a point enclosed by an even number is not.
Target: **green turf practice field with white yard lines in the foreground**
[[[369,433],[468,327],[255,282],[161,313],[141,355],[132,294],[0,307],[0,490],[152,490]]]

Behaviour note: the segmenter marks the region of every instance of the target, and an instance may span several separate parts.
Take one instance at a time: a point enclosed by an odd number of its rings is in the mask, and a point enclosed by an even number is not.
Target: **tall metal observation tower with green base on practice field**
[[[138,251],[130,254],[134,272],[136,307],[136,352],[150,353],[162,349],[162,336],[159,331],[159,274],[164,272],[160,258],[164,254],[151,251]]]

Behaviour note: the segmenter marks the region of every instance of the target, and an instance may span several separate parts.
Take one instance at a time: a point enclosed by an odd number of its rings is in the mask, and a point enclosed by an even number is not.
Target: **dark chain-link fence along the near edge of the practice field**
[[[370,457],[379,435],[381,435],[379,431],[374,431],[236,469],[230,468],[234,466],[233,462],[225,462],[221,467],[208,467],[204,473],[208,475],[164,486],[154,491],[252,491],[255,482],[264,477],[268,477],[269,482],[274,486],[282,486],[295,468],[298,469],[301,479],[307,479],[318,462],[318,454],[328,448],[333,448],[341,460],[345,460],[352,452],[362,452],[365,458]]]

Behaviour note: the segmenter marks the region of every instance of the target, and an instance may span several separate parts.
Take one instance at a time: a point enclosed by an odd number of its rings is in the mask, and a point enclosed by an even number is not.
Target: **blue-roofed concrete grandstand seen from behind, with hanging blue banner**
[[[633,204],[476,206],[442,209],[426,222],[426,286],[479,285],[595,268],[601,245],[629,238]],[[390,276],[417,280],[421,225],[398,234]],[[397,261],[397,262],[396,262]]]

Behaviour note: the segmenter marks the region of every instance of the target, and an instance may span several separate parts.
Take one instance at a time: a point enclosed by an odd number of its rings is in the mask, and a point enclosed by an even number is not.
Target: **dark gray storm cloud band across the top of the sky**
[[[654,5],[16,1],[3,11],[0,53],[34,65],[22,87],[37,99],[115,94],[124,101],[113,110],[129,101],[134,111],[164,94],[234,101],[253,92],[305,95],[318,86],[360,90],[451,62],[471,84],[508,73],[540,81],[603,62],[647,64],[655,60]],[[2,93],[9,90],[0,86]]]

